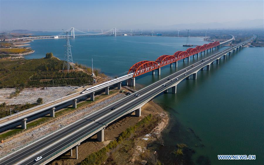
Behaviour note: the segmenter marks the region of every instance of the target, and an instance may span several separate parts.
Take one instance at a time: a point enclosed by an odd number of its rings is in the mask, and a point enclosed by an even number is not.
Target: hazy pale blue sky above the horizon
[[[163,28],[263,19],[263,1],[0,1],[0,30]]]

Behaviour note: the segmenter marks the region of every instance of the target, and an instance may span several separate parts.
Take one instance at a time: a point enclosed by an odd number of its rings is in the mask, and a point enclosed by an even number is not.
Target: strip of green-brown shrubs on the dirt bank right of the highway
[[[111,157],[107,162],[109,164],[120,164],[120,162],[115,162],[114,156],[109,152],[114,151],[118,153],[126,154],[131,150],[134,144],[134,138],[142,136],[145,134],[146,128],[151,124],[157,123],[155,119],[153,119],[152,115],[144,117],[141,121],[137,122],[134,126],[128,127],[125,131],[123,131],[116,140],[111,141],[108,145],[96,151],[89,156],[87,156],[82,162],[81,165],[94,165],[94,164],[102,164],[109,157]],[[129,139],[130,137],[133,137]],[[129,154],[127,154],[129,155]],[[127,156],[126,155],[126,156]],[[127,157],[126,157],[127,158]],[[119,155],[119,159],[124,160],[124,155]],[[122,163],[121,163],[122,164]]]

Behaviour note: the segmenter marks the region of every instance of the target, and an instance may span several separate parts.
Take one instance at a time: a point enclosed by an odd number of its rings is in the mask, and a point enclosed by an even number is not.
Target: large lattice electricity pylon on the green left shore
[[[70,38],[68,31],[65,32],[66,33],[66,45],[64,45],[65,47],[65,52],[64,52],[64,62],[63,62],[63,68],[62,70],[66,70],[69,72],[69,70],[72,69],[74,70],[74,65],[73,65],[73,60],[72,60],[72,50],[71,50],[71,45],[70,45]],[[73,35],[74,35],[74,31],[73,31]]]

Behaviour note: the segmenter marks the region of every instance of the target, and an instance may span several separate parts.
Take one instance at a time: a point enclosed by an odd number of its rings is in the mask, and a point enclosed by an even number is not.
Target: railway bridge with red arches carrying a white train
[[[232,36],[232,35],[231,35]],[[16,127],[18,125],[21,125],[23,129],[26,129],[26,122],[27,120],[33,120],[40,116],[44,116],[50,111],[50,116],[55,117],[55,110],[59,110],[63,107],[67,107],[72,103],[73,107],[77,107],[76,104],[78,101],[82,99],[86,99],[87,97],[90,97],[90,99],[94,100],[94,94],[95,92],[99,90],[105,89],[106,95],[109,94],[109,87],[112,85],[117,84],[118,89],[121,89],[121,83],[123,81],[126,81],[128,86],[135,86],[135,77],[148,73],[152,71],[152,74],[155,74],[155,70],[158,70],[158,75],[160,75],[161,67],[170,64],[170,67],[172,67],[172,63],[175,63],[175,67],[177,67],[177,63],[179,60],[187,59],[188,62],[190,60],[190,57],[194,55],[199,56],[199,53],[206,54],[209,50],[212,51],[213,49],[216,50],[216,48],[220,48],[221,46],[224,46],[228,44],[229,42],[233,41],[235,38],[232,36],[231,39],[224,41],[222,43],[219,43],[219,41],[211,42],[208,44],[204,44],[203,46],[196,46],[195,48],[188,48],[186,51],[177,51],[173,55],[161,55],[158,57],[155,61],[140,61],[136,64],[134,64],[128,71],[127,75],[124,75],[122,77],[116,78],[111,81],[107,81],[105,83],[96,85],[94,87],[88,88],[87,92],[85,93],[74,93],[71,95],[67,95],[65,97],[62,97],[61,99],[48,102],[42,105],[38,105],[32,108],[29,108],[27,110],[23,110],[21,112],[17,112],[16,114],[9,115],[7,117],[3,117],[0,119],[0,132],[3,132],[7,129],[10,129],[12,127]]]

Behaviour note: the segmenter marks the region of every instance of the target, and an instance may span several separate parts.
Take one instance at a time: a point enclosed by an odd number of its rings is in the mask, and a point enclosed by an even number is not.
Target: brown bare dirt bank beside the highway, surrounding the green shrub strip
[[[145,104],[141,108],[141,117],[134,117],[132,115],[126,116],[123,119],[119,120],[118,122],[112,124],[111,126],[107,127],[104,131],[104,142],[97,142],[97,135],[86,139],[81,145],[78,147],[78,159],[75,159],[75,149],[73,149],[73,156],[70,157],[70,152],[66,153],[55,159],[54,161],[50,162],[52,165],[71,165],[71,164],[79,164],[82,160],[85,159],[86,156],[89,154],[98,151],[102,147],[106,146],[109,142],[116,139],[121,132],[126,130],[126,128],[135,125],[138,121],[149,114],[158,115],[162,117],[157,127],[155,127],[150,132],[146,132],[146,137],[144,139],[142,137],[136,139],[136,145],[132,149],[134,152],[132,155],[132,159],[130,162],[135,162],[140,160],[140,154],[146,150],[146,145],[153,140],[157,139],[160,132],[166,127],[168,123],[168,117],[166,112],[155,104],[154,102],[150,101]],[[153,134],[153,135],[152,135]],[[154,136],[155,135],[155,136]],[[145,139],[147,138],[147,139]],[[123,159],[123,158],[120,158]]]

